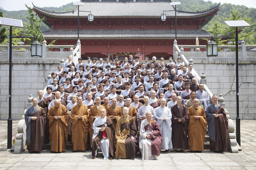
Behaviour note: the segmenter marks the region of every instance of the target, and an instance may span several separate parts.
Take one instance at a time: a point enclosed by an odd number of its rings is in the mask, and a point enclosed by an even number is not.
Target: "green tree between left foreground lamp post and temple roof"
[[[29,19],[29,23],[25,23],[25,30],[23,31],[23,36],[29,36],[29,37],[38,37],[39,42],[44,41],[44,35],[42,31],[40,30],[41,22],[44,20],[43,18],[38,18],[35,17],[33,8],[30,8],[29,6],[26,5],[28,8],[28,14],[29,17],[26,17]],[[35,40],[27,40],[27,44],[30,45],[34,42]]]

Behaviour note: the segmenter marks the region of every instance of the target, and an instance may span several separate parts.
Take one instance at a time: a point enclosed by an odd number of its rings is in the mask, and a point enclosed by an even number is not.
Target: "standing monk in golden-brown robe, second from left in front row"
[[[65,152],[68,135],[69,115],[66,106],[55,99],[47,115],[49,119],[49,133],[52,152]]]

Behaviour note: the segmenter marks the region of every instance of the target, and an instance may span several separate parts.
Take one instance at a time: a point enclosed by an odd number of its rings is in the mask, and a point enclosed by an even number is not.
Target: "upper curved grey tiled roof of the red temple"
[[[69,12],[47,11],[34,6],[34,11],[48,17],[56,18],[76,18],[78,8]],[[174,10],[170,2],[85,2],[79,7],[79,16],[86,18],[91,11],[95,18],[159,18],[163,11]],[[177,18],[197,18],[206,16],[218,11],[218,6],[199,12],[177,11]],[[175,11],[165,12],[167,17],[175,17]]]

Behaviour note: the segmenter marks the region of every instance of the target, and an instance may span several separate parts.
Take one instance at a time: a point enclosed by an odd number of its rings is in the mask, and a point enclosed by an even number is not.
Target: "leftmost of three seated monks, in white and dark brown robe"
[[[93,122],[92,156],[98,156],[98,147],[101,148],[104,160],[114,157],[114,126],[112,120],[106,116],[105,108],[100,110],[100,116]]]

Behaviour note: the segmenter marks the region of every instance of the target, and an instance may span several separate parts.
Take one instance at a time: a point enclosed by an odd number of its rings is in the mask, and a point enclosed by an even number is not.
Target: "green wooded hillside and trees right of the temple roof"
[[[203,11],[213,6],[217,6],[218,3],[212,3],[211,1],[205,2],[204,0],[175,0],[180,1],[179,6],[182,11]],[[251,26],[242,28],[242,32],[239,33],[239,40],[245,40],[246,44],[256,45],[256,8],[248,8],[243,5],[233,5],[231,3],[220,4],[219,11],[212,20],[210,20],[202,29],[212,32],[213,36],[219,36],[221,34],[234,37],[235,28],[229,28],[224,21],[225,20],[245,20]],[[231,33],[231,34],[229,34]],[[235,42],[234,40],[229,40]],[[225,41],[216,40],[219,44],[223,44]]]

